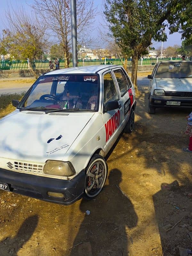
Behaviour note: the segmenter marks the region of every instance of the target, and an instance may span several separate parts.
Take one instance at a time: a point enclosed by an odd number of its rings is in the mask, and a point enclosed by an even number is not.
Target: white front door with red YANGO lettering
[[[102,118],[105,126],[106,133],[106,152],[112,147],[115,143],[117,137],[121,133],[122,130],[122,121],[123,121],[123,112],[122,105],[120,100],[120,94],[111,71],[107,71],[102,75],[102,83],[103,83],[103,111]],[[104,111],[104,105],[108,101],[118,101],[119,108],[110,110],[108,112]]]

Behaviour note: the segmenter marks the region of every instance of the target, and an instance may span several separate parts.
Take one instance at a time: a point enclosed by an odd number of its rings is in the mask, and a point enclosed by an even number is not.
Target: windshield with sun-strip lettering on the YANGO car
[[[95,74],[44,75],[37,79],[18,107],[96,111],[99,91]]]

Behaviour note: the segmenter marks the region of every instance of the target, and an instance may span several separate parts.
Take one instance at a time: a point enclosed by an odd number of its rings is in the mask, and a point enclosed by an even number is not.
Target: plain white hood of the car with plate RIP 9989
[[[172,92],[192,92],[192,78],[156,78],[157,89]]]

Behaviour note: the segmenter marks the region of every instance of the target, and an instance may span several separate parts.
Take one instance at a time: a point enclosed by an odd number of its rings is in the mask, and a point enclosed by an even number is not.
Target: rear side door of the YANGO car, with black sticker
[[[133,102],[133,95],[129,88],[128,82],[126,81],[125,75],[123,73],[123,70],[121,68],[114,68],[113,69],[114,76],[116,77],[116,82],[119,87],[120,91],[120,104],[122,105],[122,115],[123,115],[123,121],[122,121],[122,129],[124,128],[125,124],[128,121],[131,105]]]

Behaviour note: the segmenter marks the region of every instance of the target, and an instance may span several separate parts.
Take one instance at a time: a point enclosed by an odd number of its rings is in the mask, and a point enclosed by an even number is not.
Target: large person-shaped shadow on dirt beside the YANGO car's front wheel
[[[129,230],[136,227],[138,217],[119,187],[121,177],[120,170],[111,170],[103,191],[93,200],[81,201],[81,212],[89,210],[90,215],[80,224],[70,255],[128,255]]]

